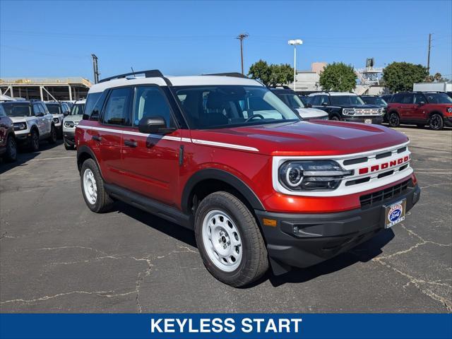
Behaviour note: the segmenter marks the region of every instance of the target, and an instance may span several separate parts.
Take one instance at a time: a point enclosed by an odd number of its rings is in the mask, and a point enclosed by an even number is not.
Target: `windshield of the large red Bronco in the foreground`
[[[194,129],[300,120],[276,95],[261,86],[184,86],[172,90]]]

